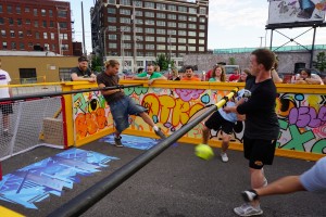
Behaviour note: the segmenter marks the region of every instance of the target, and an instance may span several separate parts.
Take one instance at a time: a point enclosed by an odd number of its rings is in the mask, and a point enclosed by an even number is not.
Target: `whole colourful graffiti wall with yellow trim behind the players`
[[[148,114],[166,135],[186,125],[205,106],[215,104],[229,91],[212,89],[179,88],[125,88],[125,94],[148,108]],[[326,153],[326,100],[321,94],[279,93],[276,113],[280,133],[278,149],[308,153]],[[100,92],[74,95],[74,122],[77,138],[113,127],[110,108]],[[129,117],[129,129],[152,132],[139,116]],[[203,123],[196,126],[185,137],[201,139]],[[244,123],[237,123],[233,141],[241,142]],[[211,131],[212,140],[220,140],[218,131]]]

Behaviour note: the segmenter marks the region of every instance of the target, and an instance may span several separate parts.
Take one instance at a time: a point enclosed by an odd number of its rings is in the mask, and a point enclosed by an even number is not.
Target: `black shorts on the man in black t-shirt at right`
[[[272,165],[275,154],[276,140],[249,139],[243,137],[244,157],[249,159],[249,167],[261,169],[264,165]]]

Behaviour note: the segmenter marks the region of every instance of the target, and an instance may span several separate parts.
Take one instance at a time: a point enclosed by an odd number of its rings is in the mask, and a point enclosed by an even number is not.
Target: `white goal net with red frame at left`
[[[1,106],[0,161],[46,143],[63,146],[61,97]]]

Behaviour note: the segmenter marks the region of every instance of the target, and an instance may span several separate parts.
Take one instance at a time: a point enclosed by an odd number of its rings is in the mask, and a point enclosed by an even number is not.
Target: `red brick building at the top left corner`
[[[0,50],[73,55],[70,2],[0,0]]]

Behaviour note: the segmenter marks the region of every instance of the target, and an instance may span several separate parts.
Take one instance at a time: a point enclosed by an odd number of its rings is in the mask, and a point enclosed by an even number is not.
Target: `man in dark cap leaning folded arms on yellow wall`
[[[96,75],[88,68],[88,59],[86,56],[78,58],[78,66],[71,69],[72,81],[83,81],[87,80],[89,82],[95,82]]]

